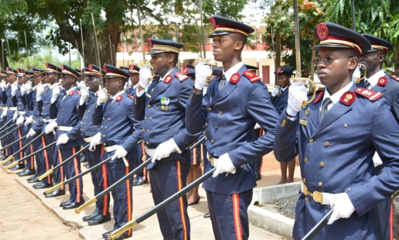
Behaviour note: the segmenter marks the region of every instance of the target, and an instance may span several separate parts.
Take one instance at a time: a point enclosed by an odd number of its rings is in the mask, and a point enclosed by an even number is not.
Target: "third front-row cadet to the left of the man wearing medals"
[[[61,66],[61,85],[66,89],[65,94],[60,94],[60,89],[55,86],[52,89],[50,104],[50,119],[54,119],[51,125],[53,129],[47,127],[47,131],[56,130],[57,137],[57,164],[63,160],[75,155],[80,149],[80,141],[78,136],[80,128],[78,126],[77,108],[79,106],[80,91],[76,87],[76,81],[79,74],[73,68]],[[80,174],[79,155],[74,157],[63,167],[66,178],[70,179]],[[70,198],[68,201],[61,203],[62,209],[77,208],[84,203],[83,199],[83,181],[82,178],[76,179],[69,183]]]

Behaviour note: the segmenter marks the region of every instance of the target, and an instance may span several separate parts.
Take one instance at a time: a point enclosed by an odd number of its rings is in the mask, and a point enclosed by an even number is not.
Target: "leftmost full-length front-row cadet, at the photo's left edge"
[[[2,82],[0,87],[2,89],[1,92],[1,101],[3,103],[3,112],[0,117],[5,119],[5,123],[8,123],[11,119],[13,119],[16,107],[12,102],[12,93],[16,92],[14,82],[16,81],[17,71],[12,69],[11,67],[6,68],[6,75],[7,75],[7,83]],[[12,87],[13,86],[13,87]],[[8,126],[11,126],[9,124]],[[6,147],[5,149],[5,156],[9,157],[14,153],[14,148],[12,146],[7,146],[8,143],[13,142],[14,135],[10,134],[2,140],[2,145]],[[9,160],[4,165],[7,166],[13,162],[14,159]]]

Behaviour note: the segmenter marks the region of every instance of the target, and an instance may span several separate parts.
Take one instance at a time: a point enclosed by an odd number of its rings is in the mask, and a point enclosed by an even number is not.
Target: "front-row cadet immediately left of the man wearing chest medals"
[[[101,125],[100,132],[93,136],[90,148],[102,143],[104,153],[102,159],[113,159],[107,164],[109,185],[121,179],[132,170],[137,162],[137,142],[141,140],[142,122],[133,116],[133,97],[123,90],[129,74],[112,65],[105,65],[105,91],[99,91],[97,104],[93,113],[93,124]],[[104,103],[105,102],[105,103]],[[131,220],[132,213],[132,179],[119,185],[112,196],[114,199],[114,229],[118,229]],[[113,230],[114,230],[113,229]],[[102,236],[107,238],[113,230]],[[131,229],[124,232],[118,239],[131,236]]]

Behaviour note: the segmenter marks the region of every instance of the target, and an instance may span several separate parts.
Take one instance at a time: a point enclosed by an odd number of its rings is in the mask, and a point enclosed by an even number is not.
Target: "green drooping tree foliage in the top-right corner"
[[[326,20],[351,28],[350,0],[328,0],[326,6]],[[399,75],[399,1],[355,1],[354,10],[357,32],[372,34],[393,43],[394,51],[389,53],[385,64],[388,68],[394,68],[395,75]]]

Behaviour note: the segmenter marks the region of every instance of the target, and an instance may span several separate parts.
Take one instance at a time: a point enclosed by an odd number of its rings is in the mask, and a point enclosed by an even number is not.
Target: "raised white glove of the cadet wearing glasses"
[[[288,104],[286,113],[291,116],[296,116],[301,110],[304,101],[307,101],[306,87],[303,85],[303,82],[293,82],[288,88]]]

